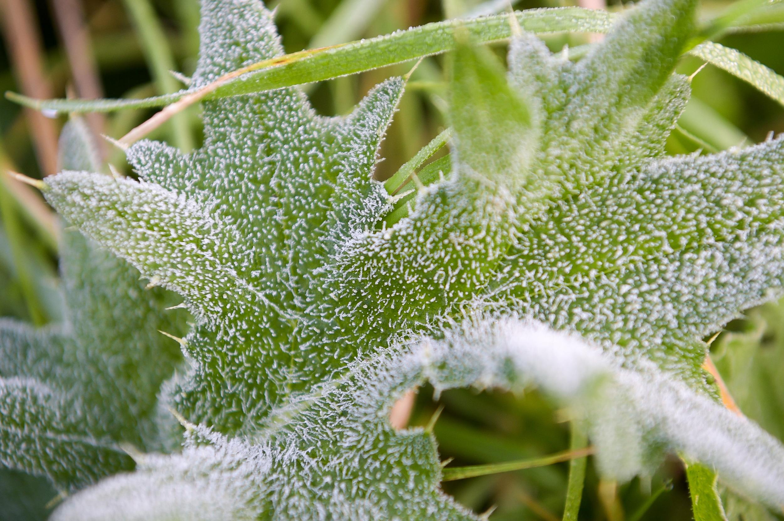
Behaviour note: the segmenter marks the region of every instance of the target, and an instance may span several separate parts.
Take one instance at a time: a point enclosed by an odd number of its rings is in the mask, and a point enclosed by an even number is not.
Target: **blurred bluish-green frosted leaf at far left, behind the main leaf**
[[[87,138],[78,120],[66,125],[64,167],[97,166]],[[162,292],[134,268],[73,231],[60,254],[64,323],[0,321],[0,450],[2,465],[66,490],[132,468],[121,442],[157,446],[158,390],[182,356],[158,333],[176,333],[180,315],[163,316]]]

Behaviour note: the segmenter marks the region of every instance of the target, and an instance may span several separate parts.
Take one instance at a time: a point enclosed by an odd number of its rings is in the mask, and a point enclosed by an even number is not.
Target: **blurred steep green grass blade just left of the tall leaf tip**
[[[176,70],[172,50],[152,6],[147,0],[125,0],[125,7],[139,34],[158,92],[171,94],[179,91],[178,82],[169,73],[170,70]],[[194,142],[186,113],[172,117],[172,140],[183,152],[193,149]]]

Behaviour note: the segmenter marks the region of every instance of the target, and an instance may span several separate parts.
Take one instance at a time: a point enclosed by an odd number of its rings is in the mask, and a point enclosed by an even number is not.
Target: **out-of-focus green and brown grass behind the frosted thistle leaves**
[[[473,16],[506,9],[509,2],[480,0],[280,0],[277,22],[287,52],[387,34],[448,17]],[[568,0],[523,0],[517,9],[572,5]],[[169,70],[186,77],[198,54],[197,0],[0,0],[4,38],[0,41],[0,90],[36,97],[136,98],[175,91],[183,86]],[[702,5],[706,17],[728,2]],[[610,5],[610,9],[623,9]],[[554,51],[588,41],[586,35],[552,35]],[[784,27],[731,34],[720,43],[739,49],[784,74]],[[503,56],[503,45],[497,46]],[[680,66],[692,74],[702,63],[686,58]],[[316,110],[347,113],[362,95],[384,78],[405,74],[412,64],[390,66],[351,77],[308,85]],[[443,59],[424,59],[383,144],[379,178],[394,173],[417,150],[445,128]],[[713,152],[763,140],[784,131],[784,110],[750,85],[707,66],[694,77],[691,102],[668,147],[670,153]],[[89,124],[100,134],[119,138],[151,115],[128,110],[93,115]],[[63,118],[47,119],[0,99],[0,170],[31,177],[56,171],[56,135]],[[198,109],[187,110],[151,135],[183,149],[201,140]],[[131,174],[123,155],[107,142],[106,159]],[[0,316],[38,325],[62,314],[54,289],[56,219],[38,194],[0,176]],[[767,304],[728,326],[716,340],[713,357],[743,411],[784,439],[784,304]],[[452,390],[434,397],[419,392],[413,425],[434,424],[443,458],[453,465],[505,462],[562,451],[568,429],[537,393]],[[445,489],[477,512],[497,507],[492,519],[560,519],[568,464],[507,472],[445,483]],[[24,483],[20,481],[20,487]],[[13,491],[4,491],[13,494]],[[773,519],[762,512],[736,512],[726,498],[730,519]],[[0,494],[2,510],[2,494]],[[4,516],[5,514],[5,516]],[[0,519],[9,512],[0,512]],[[684,472],[677,460],[648,480],[620,487],[598,483],[589,464],[581,519],[639,521],[691,519]]]

